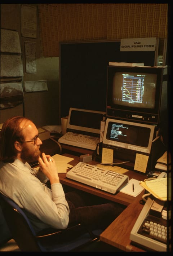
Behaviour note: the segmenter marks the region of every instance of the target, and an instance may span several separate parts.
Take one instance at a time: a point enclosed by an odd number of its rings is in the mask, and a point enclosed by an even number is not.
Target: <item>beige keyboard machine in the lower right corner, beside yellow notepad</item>
[[[151,214],[154,199],[147,199],[130,233],[133,243],[152,251],[167,251],[167,220]]]

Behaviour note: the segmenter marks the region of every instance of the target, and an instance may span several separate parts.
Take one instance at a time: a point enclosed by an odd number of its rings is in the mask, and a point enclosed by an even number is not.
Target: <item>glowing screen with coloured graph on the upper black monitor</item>
[[[113,104],[154,109],[157,74],[115,72],[112,83]]]

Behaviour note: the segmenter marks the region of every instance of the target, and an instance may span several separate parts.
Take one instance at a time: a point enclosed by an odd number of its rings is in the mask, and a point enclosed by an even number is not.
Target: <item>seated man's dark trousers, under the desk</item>
[[[107,228],[125,208],[80,190],[65,195],[70,208],[69,225],[80,222],[92,230]]]

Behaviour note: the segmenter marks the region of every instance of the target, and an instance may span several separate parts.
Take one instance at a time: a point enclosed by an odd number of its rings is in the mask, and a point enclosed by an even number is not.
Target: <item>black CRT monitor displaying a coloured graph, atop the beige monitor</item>
[[[166,71],[161,67],[108,66],[106,116],[159,124],[167,102]]]

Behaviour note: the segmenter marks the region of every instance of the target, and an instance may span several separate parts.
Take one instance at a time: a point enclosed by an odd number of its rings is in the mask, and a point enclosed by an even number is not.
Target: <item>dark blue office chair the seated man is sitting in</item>
[[[78,223],[65,230],[45,229],[36,234],[25,212],[12,199],[0,193],[0,203],[12,237],[21,251],[80,251],[98,241],[103,231],[90,231]]]

